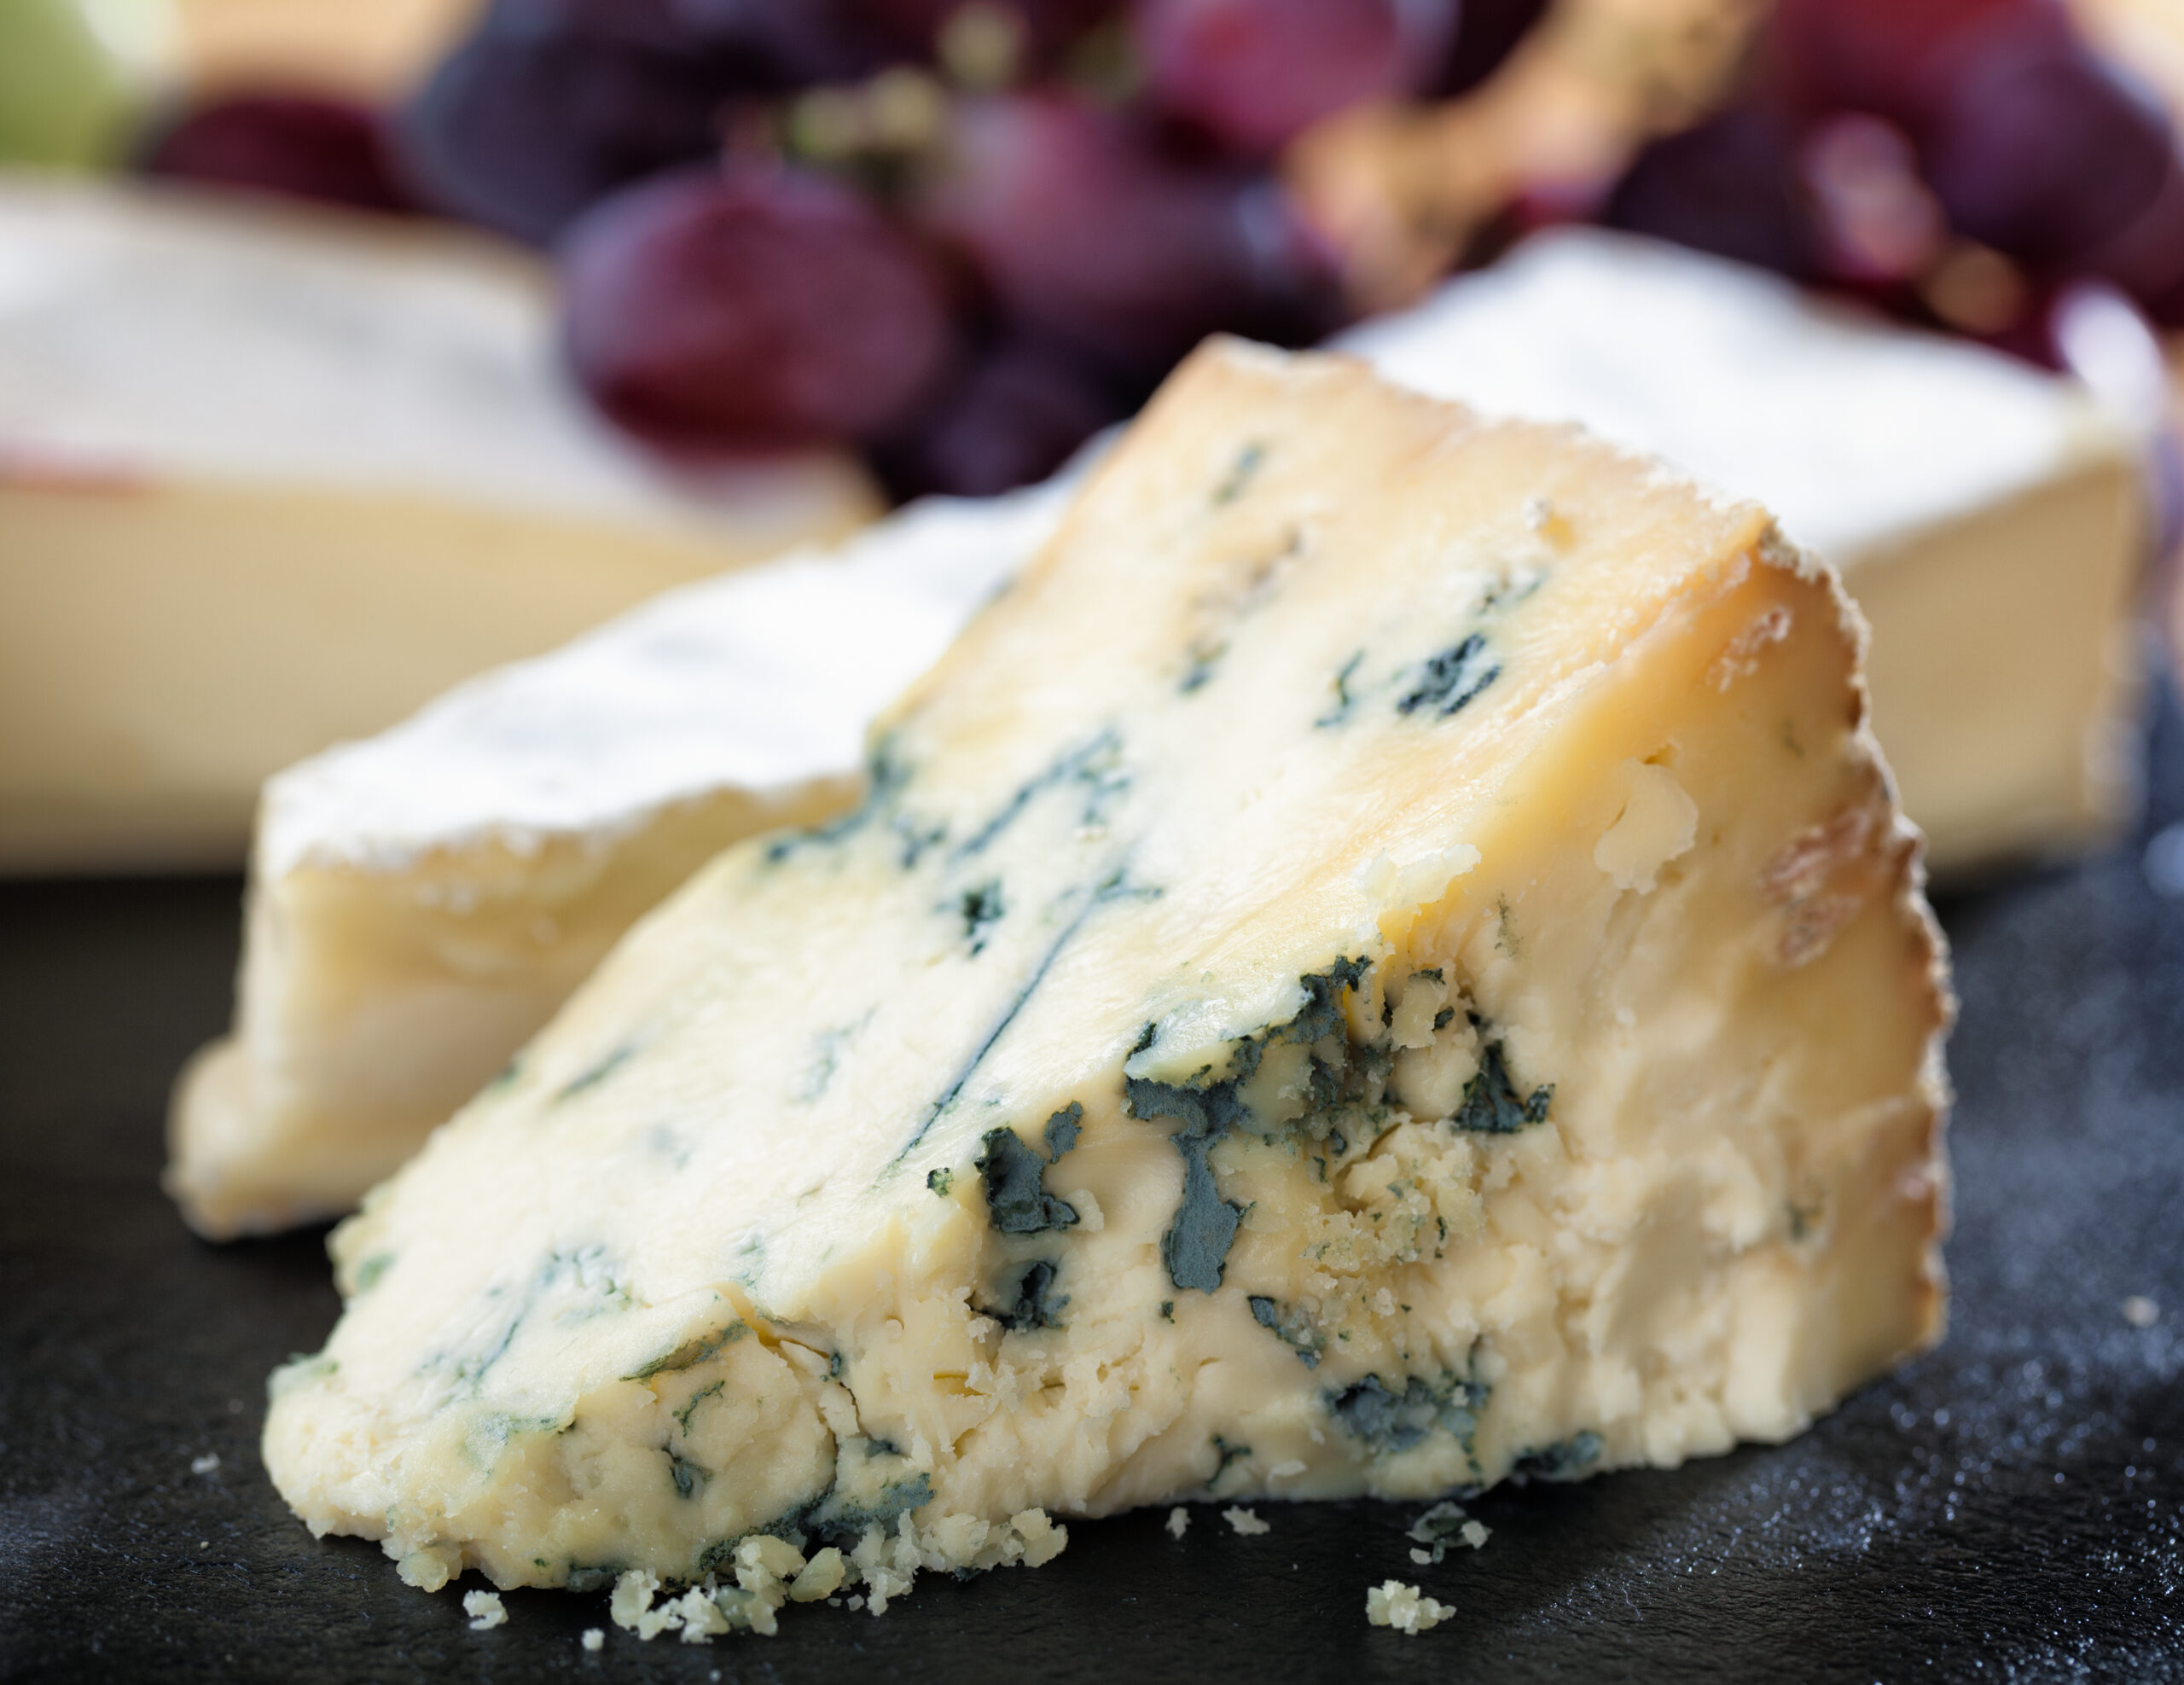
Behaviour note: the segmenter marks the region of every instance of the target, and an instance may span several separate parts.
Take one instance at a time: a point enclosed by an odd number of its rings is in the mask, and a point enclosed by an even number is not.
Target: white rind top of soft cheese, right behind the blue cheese
[[[1605,229],[1540,234],[1339,347],[1435,398],[1664,457],[1845,573],[2134,448],[2092,393],[2018,358]]]

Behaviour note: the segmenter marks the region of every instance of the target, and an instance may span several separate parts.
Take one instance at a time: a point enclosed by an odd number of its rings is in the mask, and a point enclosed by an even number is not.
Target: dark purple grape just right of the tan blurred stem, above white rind
[[[1638,153],[1601,221],[1784,275],[1813,275],[1821,256],[1797,135],[1752,105]]]

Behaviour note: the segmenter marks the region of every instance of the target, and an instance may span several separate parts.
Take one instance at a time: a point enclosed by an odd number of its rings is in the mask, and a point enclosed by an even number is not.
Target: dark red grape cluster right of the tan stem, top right
[[[2064,361],[2094,284],[2184,326],[2184,160],[2064,0],[1778,0],[1728,109],[1603,221]]]

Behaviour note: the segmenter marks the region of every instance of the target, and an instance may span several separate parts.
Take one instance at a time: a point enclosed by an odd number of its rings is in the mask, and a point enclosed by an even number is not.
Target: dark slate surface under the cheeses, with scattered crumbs
[[[155,1187],[166,1084],[227,1018],[236,885],[4,887],[0,1676],[2184,1678],[2184,881],[2156,887],[2184,830],[2147,846],[2184,824],[2173,704],[2151,782],[2132,844],[1944,905],[1952,1331],[1802,1440],[1492,1493],[1487,1547],[1441,1567],[1411,1567],[1409,1508],[1262,1506],[1265,1539],[1199,1510],[1182,1543],[1136,1515],[878,1622],[609,1628],[596,1657],[603,1598],[511,1593],[472,1635],[266,1486],[262,1377],[336,1311],[321,1235],[203,1246]],[[1459,1615],[1367,1628],[1389,1574]]]

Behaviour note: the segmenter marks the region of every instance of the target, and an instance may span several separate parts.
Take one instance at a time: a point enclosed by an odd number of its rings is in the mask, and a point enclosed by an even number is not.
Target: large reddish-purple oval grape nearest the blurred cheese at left
[[[616,195],[570,229],[561,282],[579,380],[679,448],[874,437],[954,358],[915,240],[850,188],[780,166]]]

